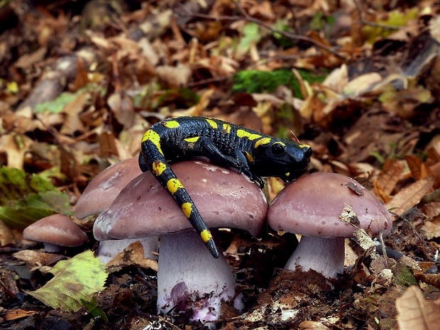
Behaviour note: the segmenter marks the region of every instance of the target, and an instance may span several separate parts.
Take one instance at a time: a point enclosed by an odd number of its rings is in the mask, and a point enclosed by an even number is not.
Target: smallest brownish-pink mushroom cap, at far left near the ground
[[[82,246],[89,238],[75,222],[63,214],[40,219],[23,230],[23,238],[57,246]]]

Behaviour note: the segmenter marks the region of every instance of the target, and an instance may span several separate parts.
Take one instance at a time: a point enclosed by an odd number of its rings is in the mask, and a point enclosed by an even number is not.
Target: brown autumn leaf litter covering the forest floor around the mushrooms
[[[157,263],[143,259],[140,246],[117,255],[107,277],[90,252],[97,248],[93,218],[74,219],[91,241],[60,254],[24,241],[21,230],[47,212],[73,214],[97,173],[138,154],[151,124],[202,115],[285,138],[295,132],[314,150],[309,172],[356,178],[395,216],[383,242],[360,231],[358,242],[346,241],[351,258],[330,282],[313,271],[281,269],[292,234],[221,231],[245,306],[211,326],[436,329],[435,1],[18,0],[6,1],[0,16],[8,17],[0,23],[0,165],[21,171],[19,180],[2,175],[9,179],[0,182],[0,327],[201,326],[156,314]],[[40,183],[27,189],[35,177]],[[282,186],[268,180],[270,199]],[[364,238],[368,246],[359,246]],[[32,297],[54,280],[59,291],[40,298],[57,296],[58,303]],[[79,295],[61,306],[69,284]]]

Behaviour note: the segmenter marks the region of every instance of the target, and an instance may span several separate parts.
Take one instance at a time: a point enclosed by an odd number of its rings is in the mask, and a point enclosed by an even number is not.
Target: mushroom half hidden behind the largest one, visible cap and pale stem
[[[128,182],[142,173],[138,164],[138,157],[123,160],[107,167],[89,182],[75,205],[75,215],[84,219],[93,214],[100,214],[110,206],[121,189]],[[157,259],[154,254],[158,251],[158,236],[148,238],[101,241],[98,247],[98,257],[103,263],[109,263],[117,254],[131,243],[139,241],[143,246],[144,258]]]

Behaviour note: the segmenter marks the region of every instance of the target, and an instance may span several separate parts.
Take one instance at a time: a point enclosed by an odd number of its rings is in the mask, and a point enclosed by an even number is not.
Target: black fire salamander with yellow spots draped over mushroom
[[[312,148],[299,141],[268,136],[207,117],[177,117],[155,123],[142,138],[139,166],[150,170],[174,197],[214,256],[219,258],[211,232],[168,161],[206,157],[222,167],[236,167],[260,187],[261,177],[295,180],[307,168]]]

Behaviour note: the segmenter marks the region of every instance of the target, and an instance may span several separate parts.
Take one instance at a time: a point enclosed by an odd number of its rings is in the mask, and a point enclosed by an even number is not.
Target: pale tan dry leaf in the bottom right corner
[[[437,330],[440,324],[440,306],[427,302],[422,290],[411,286],[396,300],[397,324],[400,330]]]

